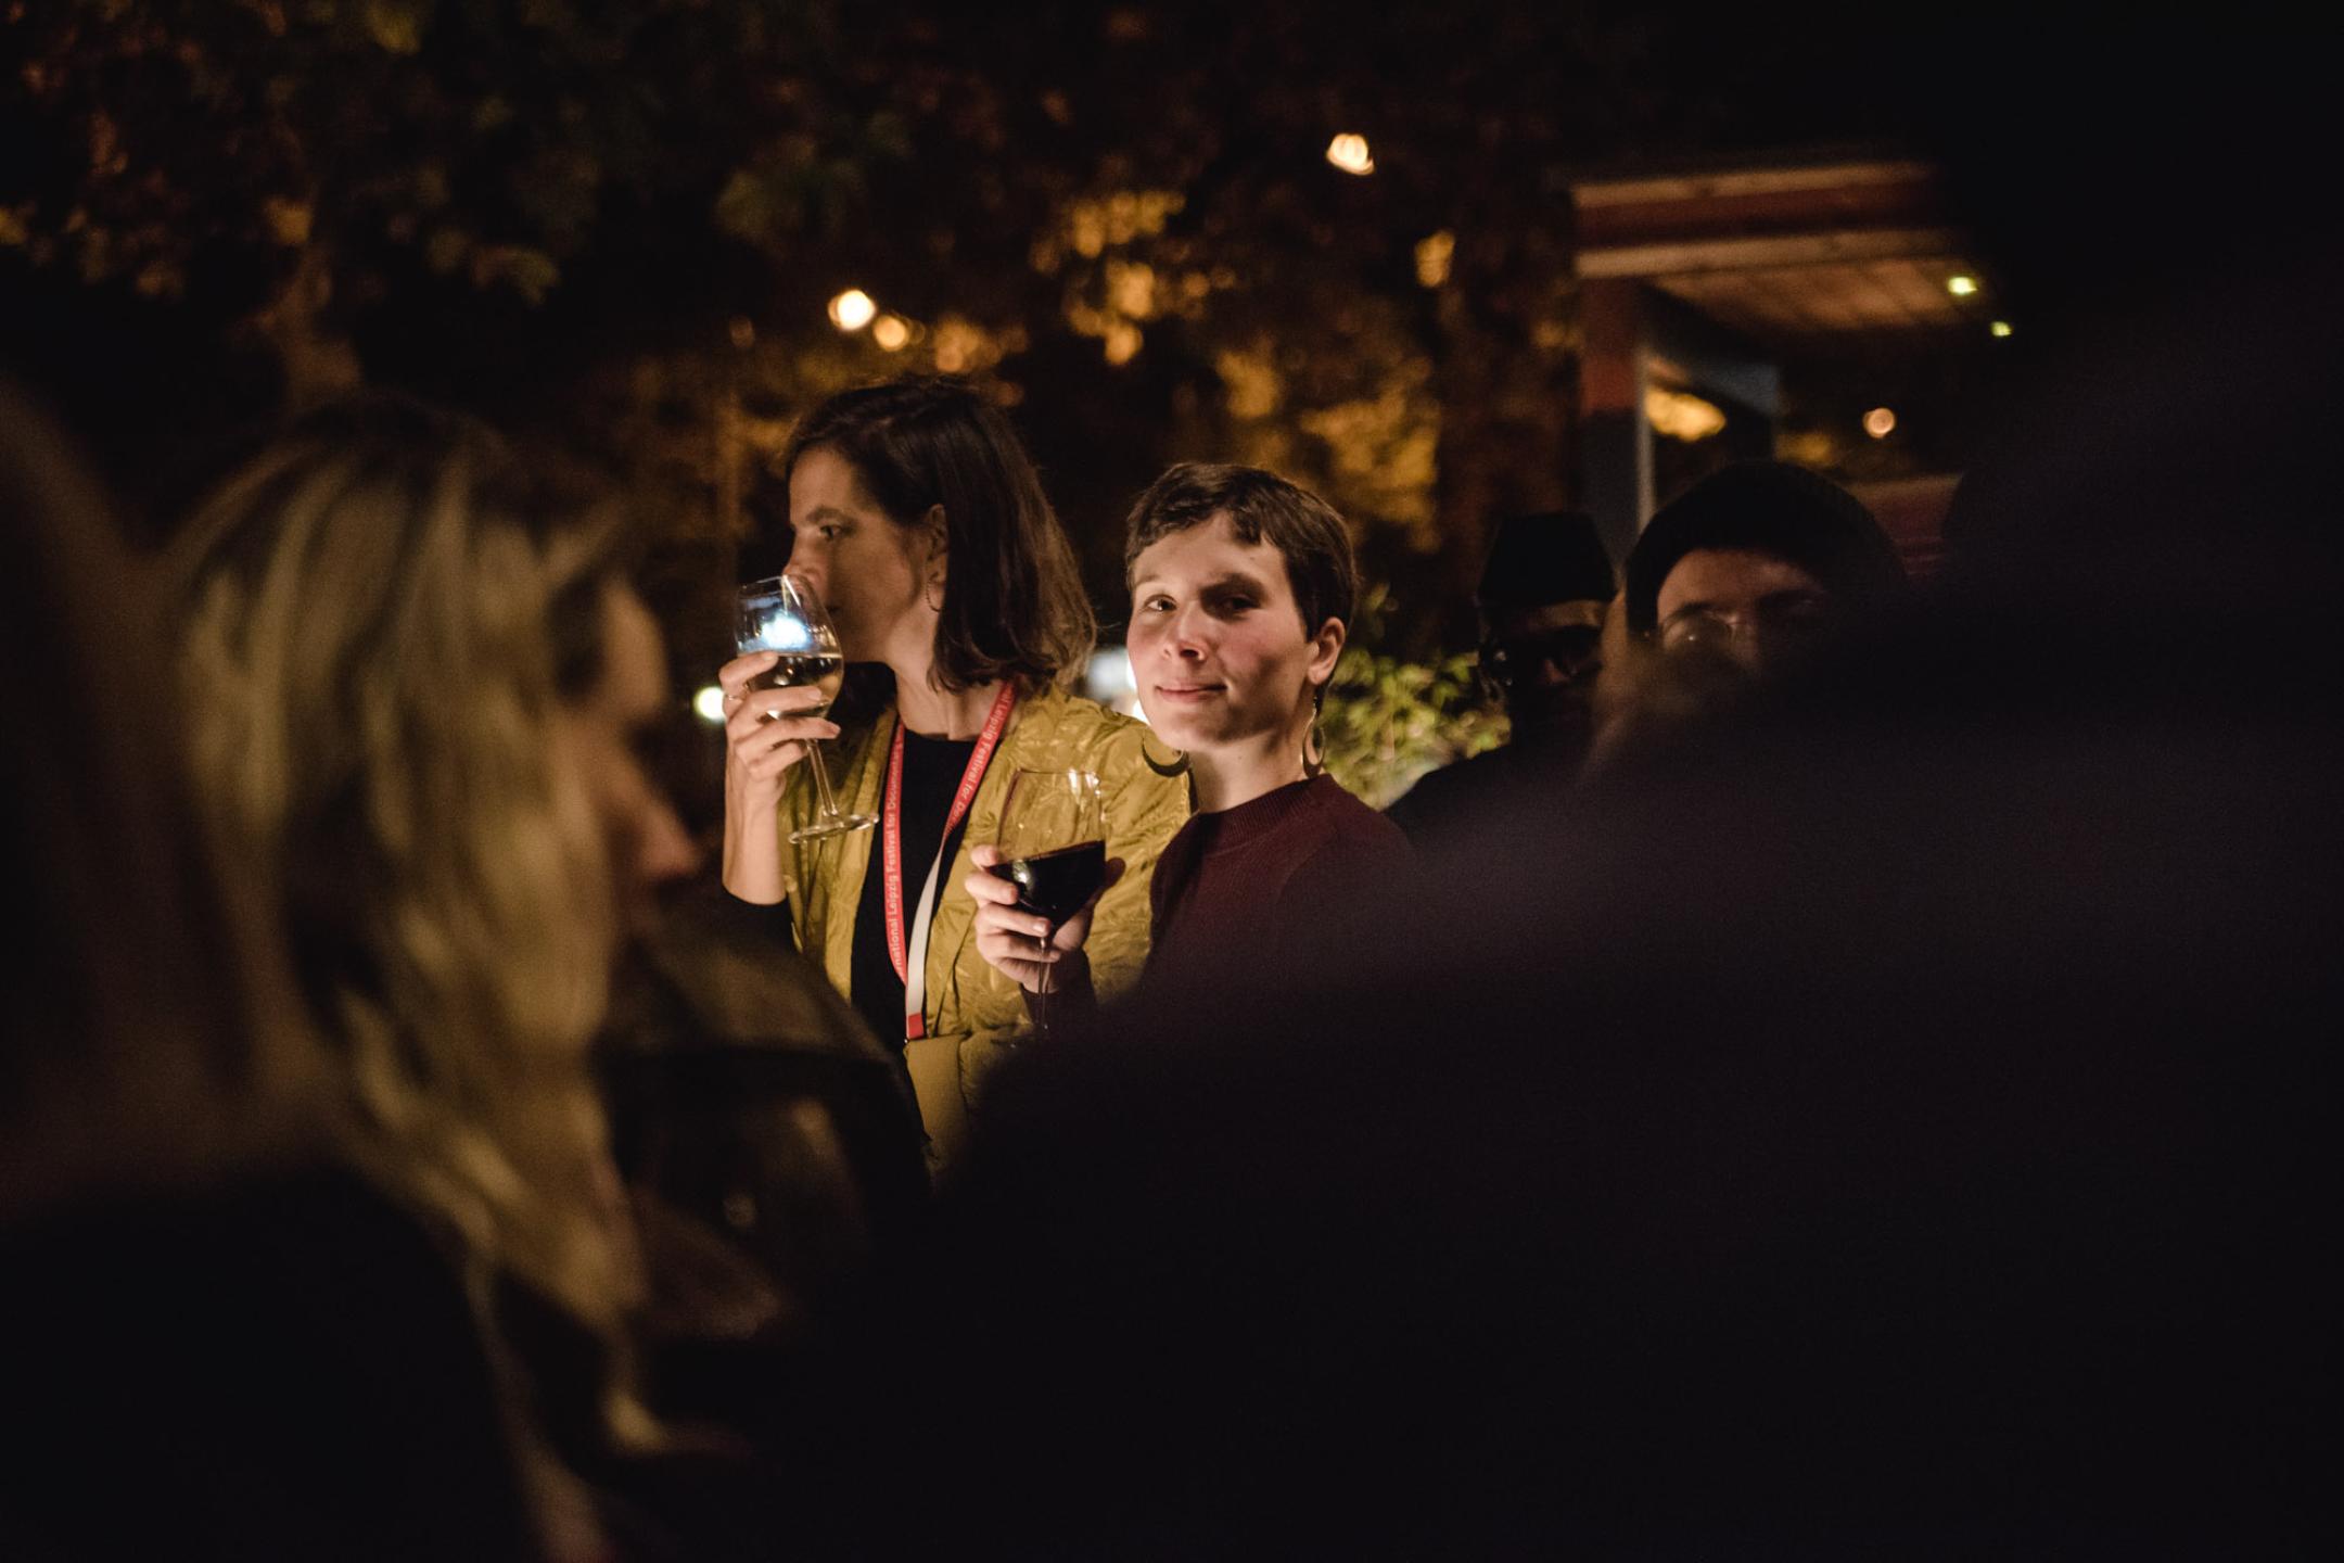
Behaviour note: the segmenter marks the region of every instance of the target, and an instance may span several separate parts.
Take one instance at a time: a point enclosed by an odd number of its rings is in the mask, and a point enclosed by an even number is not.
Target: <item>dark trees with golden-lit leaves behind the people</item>
[[[155,525],[241,424],[417,389],[619,469],[706,668],[790,422],[966,373],[1015,408],[1109,635],[1120,513],[1165,462],[1324,492],[1385,586],[1362,649],[1425,670],[1378,684],[1395,752],[1411,684],[1467,731],[1442,668],[1488,525],[1573,492],[1570,176],[1847,138],[1871,84],[1861,33],[1592,0],[0,16],[7,356]]]

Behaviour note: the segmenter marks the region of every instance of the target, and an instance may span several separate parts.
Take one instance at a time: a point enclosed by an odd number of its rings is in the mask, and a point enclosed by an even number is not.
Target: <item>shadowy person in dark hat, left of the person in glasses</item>
[[[1517,787],[1566,787],[1594,740],[1613,565],[1587,516],[1549,511],[1498,527],[1474,609],[1481,675],[1505,696],[1505,745],[1420,778],[1385,808],[1416,846],[1453,837]]]

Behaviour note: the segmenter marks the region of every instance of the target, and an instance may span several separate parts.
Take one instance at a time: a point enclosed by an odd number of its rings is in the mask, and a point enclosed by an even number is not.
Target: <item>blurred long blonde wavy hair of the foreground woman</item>
[[[558,628],[598,623],[612,537],[485,429],[366,401],[171,555],[199,792],[274,890],[368,1160],[462,1237],[485,1317],[511,1275],[605,1340],[640,1296],[586,1066],[616,914]]]

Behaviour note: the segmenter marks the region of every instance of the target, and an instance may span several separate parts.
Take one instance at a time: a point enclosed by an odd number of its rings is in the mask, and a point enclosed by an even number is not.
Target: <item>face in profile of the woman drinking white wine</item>
[[[924,668],[935,647],[945,560],[928,525],[898,525],[856,469],[813,448],[790,471],[790,574],[806,576],[830,609],[851,663]]]

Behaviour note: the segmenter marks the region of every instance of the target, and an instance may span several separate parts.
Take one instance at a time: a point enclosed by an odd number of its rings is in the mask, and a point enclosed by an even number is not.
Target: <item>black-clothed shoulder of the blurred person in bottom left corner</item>
[[[443,1247],[363,1179],[91,1200],[0,1237],[0,1554],[527,1558]]]

